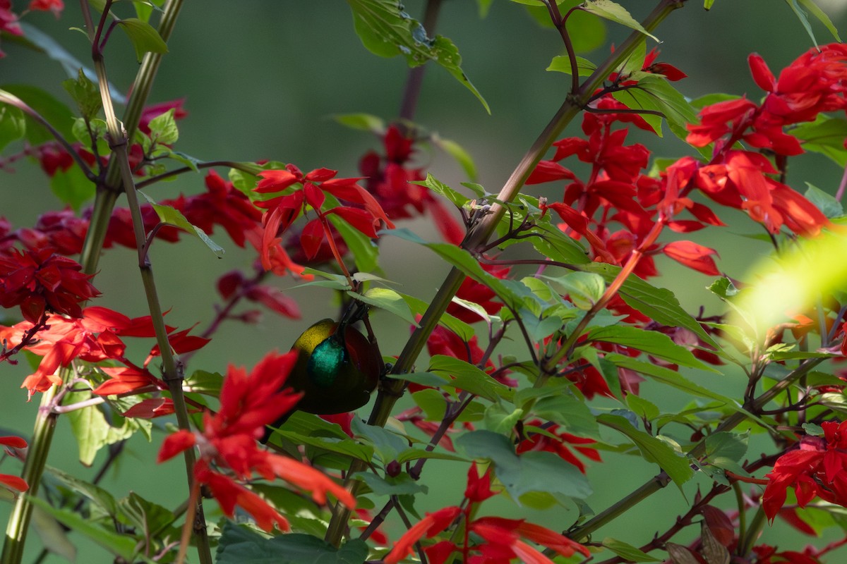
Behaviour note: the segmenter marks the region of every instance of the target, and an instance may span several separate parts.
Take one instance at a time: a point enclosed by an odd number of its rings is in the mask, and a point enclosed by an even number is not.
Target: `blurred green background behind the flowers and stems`
[[[15,3],[17,7],[22,2]],[[653,3],[643,0],[624,3],[640,19]],[[677,83],[685,96],[695,98],[711,92],[749,93],[761,96],[750,79],[746,57],[759,52],[775,73],[800,53],[811,47],[811,40],[786,3],[774,0],[717,0],[710,12],[693,0],[678,10],[656,31],[662,40],[659,60],[673,63],[689,74]],[[847,4],[840,0],[819,1],[842,34],[847,33]],[[128,8],[128,7],[127,7]],[[420,17],[423,2],[408,0],[407,11]],[[128,14],[125,14],[128,15]],[[86,36],[71,26],[82,26],[80,8],[69,3],[62,19],[50,14],[30,14],[30,24],[46,30],[81,61],[88,62],[90,47]],[[820,42],[830,41],[826,30],[813,25]],[[535,136],[562,103],[569,85],[567,75],[547,73],[551,57],[562,52],[561,40],[554,30],[540,27],[518,3],[495,0],[486,18],[480,19],[477,3],[471,0],[446,0],[436,30],[450,37],[462,54],[462,68],[490,103],[491,115],[467,90],[441,68],[429,68],[418,105],[416,120],[441,136],[456,140],[473,156],[479,170],[479,183],[490,192],[501,184],[523,156]],[[606,25],[601,47],[581,53],[600,61],[610,44],[620,43],[627,30]],[[654,43],[648,41],[648,48]],[[7,57],[0,60],[0,84],[28,83],[53,92],[70,103],[58,85],[66,78],[57,63],[12,44],[3,44]],[[293,162],[304,170],[329,167],[340,176],[356,176],[357,161],[369,149],[379,150],[379,141],[369,134],[345,129],[330,118],[333,114],[368,112],[386,120],[396,117],[407,68],[400,58],[383,59],[367,52],[352,28],[346,3],[293,2],[291,0],[247,0],[224,2],[206,0],[185,3],[180,20],[169,42],[151,102],[185,97],[189,116],[180,122],[179,151],[202,160],[229,159],[253,161],[274,159]],[[106,51],[108,73],[119,90],[126,91],[135,76],[136,58],[129,41],[116,33]],[[578,120],[579,121],[579,120]],[[578,134],[574,123],[565,135]],[[666,129],[667,133],[667,129]],[[669,134],[668,134],[669,135]],[[646,134],[632,133],[630,141],[645,143],[655,156],[682,156],[689,148],[666,136],[664,140]],[[9,147],[5,153],[14,151]],[[445,183],[457,186],[467,180],[462,169],[450,157],[433,152],[419,155],[420,162]],[[569,164],[569,163],[566,163]],[[14,227],[31,225],[36,216],[58,207],[58,199],[50,192],[47,181],[37,167],[17,162],[14,174],[0,172],[0,216]],[[225,174],[225,171],[220,171]],[[789,184],[805,189],[805,181],[834,193],[841,171],[832,162],[817,155],[803,156],[791,164]],[[160,183],[148,194],[161,200],[180,192],[202,190],[202,178],[183,176],[173,183]],[[532,187],[532,194],[545,194]],[[556,188],[545,186],[550,194]],[[742,277],[754,258],[755,245],[747,254],[734,252],[739,245],[738,233],[756,233],[756,228],[739,214],[718,211],[730,227],[722,231],[706,229],[691,237],[700,244],[721,252],[718,267],[734,277]],[[424,238],[437,235],[425,221],[407,224]],[[152,261],[164,307],[172,308],[169,323],[185,328],[199,322],[202,329],[213,316],[216,294],[213,283],[220,274],[235,268],[247,269],[252,254],[240,252],[223,232],[213,238],[223,244],[227,254],[216,259],[197,240],[184,238],[179,245],[156,244]],[[444,264],[433,255],[409,249],[410,244],[396,238],[385,238],[381,244],[381,262],[386,277],[400,282],[404,293],[429,299],[446,273]],[[761,249],[765,249],[761,247]],[[119,309],[127,315],[146,314],[141,284],[135,266],[135,254],[129,249],[108,250],[101,262],[97,287],[103,296],[98,304]],[[691,310],[706,304],[707,315],[720,311],[706,285],[708,277],[692,273],[658,260],[665,275],[656,281],[671,288]],[[296,281],[280,279],[281,288]],[[224,371],[228,363],[252,366],[270,348],[285,350],[313,320],[335,315],[337,306],[326,292],[293,289],[303,311],[299,321],[265,315],[256,326],[224,325],[213,343],[191,360],[191,370]],[[384,313],[375,315],[380,344],[385,354],[396,354],[407,335],[405,323]],[[137,348],[142,354],[143,347]],[[423,361],[422,361],[423,362]],[[3,364],[0,367],[3,386],[3,419],[0,425],[28,435],[37,409],[37,397],[25,402],[19,383],[29,370]],[[740,395],[744,381],[738,375],[723,380],[715,375],[690,375],[706,386]],[[688,397],[660,395],[644,386],[645,394],[670,411],[689,401]],[[618,437],[610,436],[613,441]],[[127,446],[126,457],[113,467],[103,483],[115,496],[130,490],[153,501],[169,503],[185,496],[185,476],[180,461],[157,466],[153,463],[158,444],[147,444],[134,438]],[[755,458],[755,442],[748,457]],[[58,441],[50,464],[90,479],[97,469],[82,468],[75,462],[76,451],[67,424],[60,420]],[[590,477],[595,495],[589,504],[599,511],[634,486],[655,474],[656,468],[640,459],[604,455],[606,463],[594,464]],[[99,461],[99,459],[98,459]],[[3,464],[4,472],[16,472],[14,461]],[[454,475],[455,474],[455,475]],[[433,510],[455,504],[464,487],[464,471],[449,464],[431,463],[424,471],[430,495],[418,508]],[[690,501],[695,482],[685,487]],[[706,481],[701,482],[704,488]],[[684,497],[675,488],[667,488],[645,501],[633,512],[602,529],[596,539],[614,536],[635,545],[649,540],[655,531],[673,524],[685,506]],[[210,504],[212,505],[212,504]],[[508,501],[491,501],[486,511],[501,515],[526,514],[535,522],[551,528],[567,528],[575,512],[535,514],[516,510]],[[5,523],[8,504],[0,506],[0,523]],[[399,529],[389,533],[396,538]],[[789,540],[782,523],[766,528],[762,542],[784,548],[798,548],[805,539]],[[77,536],[73,538],[78,539]],[[792,537],[793,538],[793,537]],[[811,540],[811,539],[810,539]],[[682,541],[680,541],[682,542]],[[823,543],[823,540],[817,540]],[[35,537],[28,545],[28,560],[40,550]],[[837,561],[833,556],[830,561]],[[49,556],[47,561],[58,561]],[[108,561],[107,554],[80,542],[78,561]]]

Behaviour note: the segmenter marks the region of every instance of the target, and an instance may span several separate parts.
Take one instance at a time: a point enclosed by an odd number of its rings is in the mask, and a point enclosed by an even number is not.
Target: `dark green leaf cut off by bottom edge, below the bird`
[[[311,534],[280,534],[266,539],[246,527],[227,522],[221,534],[216,564],[362,564],[368,559],[363,540],[348,540],[340,548]]]

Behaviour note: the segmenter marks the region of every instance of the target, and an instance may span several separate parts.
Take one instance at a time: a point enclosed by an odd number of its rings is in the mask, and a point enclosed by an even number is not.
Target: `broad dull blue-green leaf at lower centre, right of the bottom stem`
[[[518,456],[506,436],[487,430],[466,433],[454,444],[468,457],[490,460],[497,479],[516,501],[536,491],[579,499],[591,495],[588,479],[579,469],[552,452],[524,452]],[[551,479],[551,476],[556,478]]]

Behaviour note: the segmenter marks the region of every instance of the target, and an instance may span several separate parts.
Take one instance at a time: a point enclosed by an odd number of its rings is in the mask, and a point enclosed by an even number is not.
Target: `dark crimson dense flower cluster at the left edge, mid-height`
[[[91,275],[75,260],[53,249],[8,249],[0,254],[0,306],[20,307],[25,320],[38,323],[47,312],[80,317],[80,302],[100,295]]]

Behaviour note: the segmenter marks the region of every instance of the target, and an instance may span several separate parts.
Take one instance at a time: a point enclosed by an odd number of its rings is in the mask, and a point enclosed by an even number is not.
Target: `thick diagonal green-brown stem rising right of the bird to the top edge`
[[[647,16],[644,22],[642,22],[645,30],[651,31],[656,29],[656,26],[675,9],[682,8],[683,3],[684,0],[662,0],[650,15]],[[579,115],[579,112],[582,111],[582,108],[594,94],[594,91],[603,84],[606,77],[615,68],[618,68],[627,60],[641,41],[645,41],[645,36],[638,31],[634,31],[588,79],[585,79],[579,90],[567,96],[562,107],[559,108],[556,115],[553,116],[550,123],[547,123],[547,126],[538,136],[538,139],[529,148],[529,151],[518,162],[518,166],[515,167],[506,183],[503,184],[500,194],[497,194],[496,200],[508,203],[515,199],[520,193],[523,183],[529,178],[529,174],[545,156],[545,153],[550,149],[558,135],[562,133],[562,129],[565,129],[567,124],[571,123],[573,118]],[[490,212],[479,223],[471,227],[468,235],[462,242],[462,248],[473,251],[478,249],[480,245],[484,245],[495,232],[505,212],[506,208],[503,205],[496,202],[492,204]],[[412,337],[406,342],[406,346],[397,358],[397,362],[391,370],[393,374],[406,374],[412,370],[412,365],[418,359],[421,351],[424,350],[424,345],[427,339],[429,339],[429,335],[435,330],[435,326],[438,324],[441,315],[444,315],[447,306],[451,303],[451,299],[456,295],[464,279],[465,274],[456,267],[451,268],[450,272],[447,273],[444,282],[441,283],[438,292],[435,293],[435,298],[433,298],[429,307],[424,312],[424,316],[418,322],[418,328],[412,332]],[[391,408],[394,407],[397,399],[401,397],[404,387],[405,382],[401,380],[386,381],[383,386],[380,386],[374,409],[368,419],[368,424],[385,425],[391,413]],[[350,474],[361,472],[364,468],[365,464],[362,461],[355,460],[351,464]],[[357,490],[358,483],[352,484],[351,491],[354,496]],[[332,519],[329,521],[329,528],[325,536],[327,542],[335,546],[340,544],[341,536],[344,534],[349,517],[350,511],[346,508],[336,510]]]

